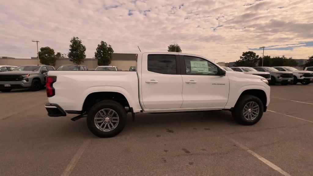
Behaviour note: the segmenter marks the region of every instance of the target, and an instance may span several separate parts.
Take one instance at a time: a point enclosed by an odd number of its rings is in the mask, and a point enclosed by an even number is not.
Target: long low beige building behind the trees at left
[[[97,64],[96,59],[86,58],[82,65],[86,65],[88,69],[95,69]],[[13,57],[0,57],[0,65],[37,65],[37,58],[31,59],[18,59]],[[54,68],[58,68],[60,65],[72,65],[73,62],[69,61],[69,58],[57,59]],[[121,70],[129,70],[131,66],[136,66],[136,54],[123,54],[113,53],[111,66],[117,66]]]

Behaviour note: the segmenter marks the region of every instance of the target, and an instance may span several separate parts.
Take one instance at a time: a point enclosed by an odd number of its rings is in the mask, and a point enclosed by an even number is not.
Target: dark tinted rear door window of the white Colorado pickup
[[[148,70],[162,74],[176,74],[175,55],[148,55]]]

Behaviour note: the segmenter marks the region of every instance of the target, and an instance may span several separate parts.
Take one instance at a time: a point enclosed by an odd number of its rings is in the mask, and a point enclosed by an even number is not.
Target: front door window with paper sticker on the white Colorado
[[[217,66],[211,62],[192,56],[184,56],[187,75],[217,75]]]

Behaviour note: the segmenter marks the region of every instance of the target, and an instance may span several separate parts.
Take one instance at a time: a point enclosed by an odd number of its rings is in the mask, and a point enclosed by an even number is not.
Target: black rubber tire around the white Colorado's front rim
[[[255,102],[259,106],[259,114],[253,120],[246,119],[243,113],[244,106],[249,102]],[[263,110],[264,110],[263,103],[258,97],[252,95],[243,95],[238,99],[232,111],[232,115],[235,121],[242,125],[254,125],[257,122],[259,122],[259,120],[262,118]]]

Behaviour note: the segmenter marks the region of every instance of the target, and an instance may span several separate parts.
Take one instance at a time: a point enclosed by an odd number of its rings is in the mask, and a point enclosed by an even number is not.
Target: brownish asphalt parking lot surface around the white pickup
[[[49,117],[45,90],[0,92],[0,175],[312,175],[313,84],[271,86],[267,112],[131,114],[116,137]]]

